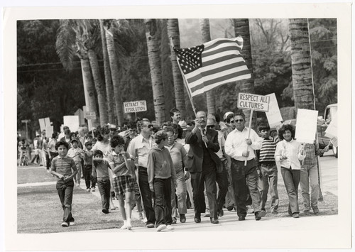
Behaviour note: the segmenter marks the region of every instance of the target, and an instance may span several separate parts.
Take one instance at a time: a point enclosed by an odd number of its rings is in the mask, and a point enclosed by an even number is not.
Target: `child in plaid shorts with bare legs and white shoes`
[[[131,163],[129,153],[124,151],[124,138],[121,136],[112,136],[111,138],[112,152],[107,157],[114,176],[114,192],[119,200],[119,211],[121,212],[124,225],[121,229],[131,230],[131,213],[132,213],[132,196],[134,190],[134,180],[136,175]]]

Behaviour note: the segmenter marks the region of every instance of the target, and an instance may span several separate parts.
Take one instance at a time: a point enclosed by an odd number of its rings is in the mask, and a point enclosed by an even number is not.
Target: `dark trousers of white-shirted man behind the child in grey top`
[[[141,190],[144,211],[146,212],[147,224],[155,224],[153,209],[153,192],[149,188],[147,168],[138,167],[138,185]]]

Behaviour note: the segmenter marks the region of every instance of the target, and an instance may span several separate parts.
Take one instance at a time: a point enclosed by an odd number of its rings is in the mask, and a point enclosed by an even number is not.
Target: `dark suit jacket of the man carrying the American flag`
[[[209,140],[207,144],[207,150],[211,155],[212,160],[216,164],[217,172],[222,171],[221,160],[216,155],[219,150],[218,132],[212,128],[207,128],[206,136]],[[185,143],[190,144],[189,153],[187,153],[186,168],[190,172],[202,172],[203,162],[203,147],[204,141],[202,141],[201,131],[197,131],[195,134],[192,131],[188,131],[185,138]]]

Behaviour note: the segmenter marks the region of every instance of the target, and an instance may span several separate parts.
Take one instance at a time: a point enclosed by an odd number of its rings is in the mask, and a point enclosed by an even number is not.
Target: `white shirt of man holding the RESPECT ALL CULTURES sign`
[[[251,145],[248,147],[246,144],[248,131],[248,128],[244,128],[243,131],[234,129],[234,131],[231,131],[231,133],[228,134],[226,137],[226,143],[224,144],[226,155],[229,155],[231,158],[239,161],[252,160],[255,158],[254,150],[260,150],[261,142],[263,139],[261,139],[258,134],[251,128],[249,137],[251,139]],[[242,155],[247,148],[249,150],[248,158]]]

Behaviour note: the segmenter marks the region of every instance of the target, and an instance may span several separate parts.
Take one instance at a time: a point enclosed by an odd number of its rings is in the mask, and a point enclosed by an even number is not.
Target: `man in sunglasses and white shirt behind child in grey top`
[[[131,140],[127,152],[134,163],[138,163],[138,185],[141,190],[144,211],[146,212],[147,227],[153,228],[155,214],[152,204],[152,192],[148,183],[148,153],[153,147],[153,124],[148,120],[138,121],[137,128],[141,133]],[[136,161],[136,162],[135,162]]]

